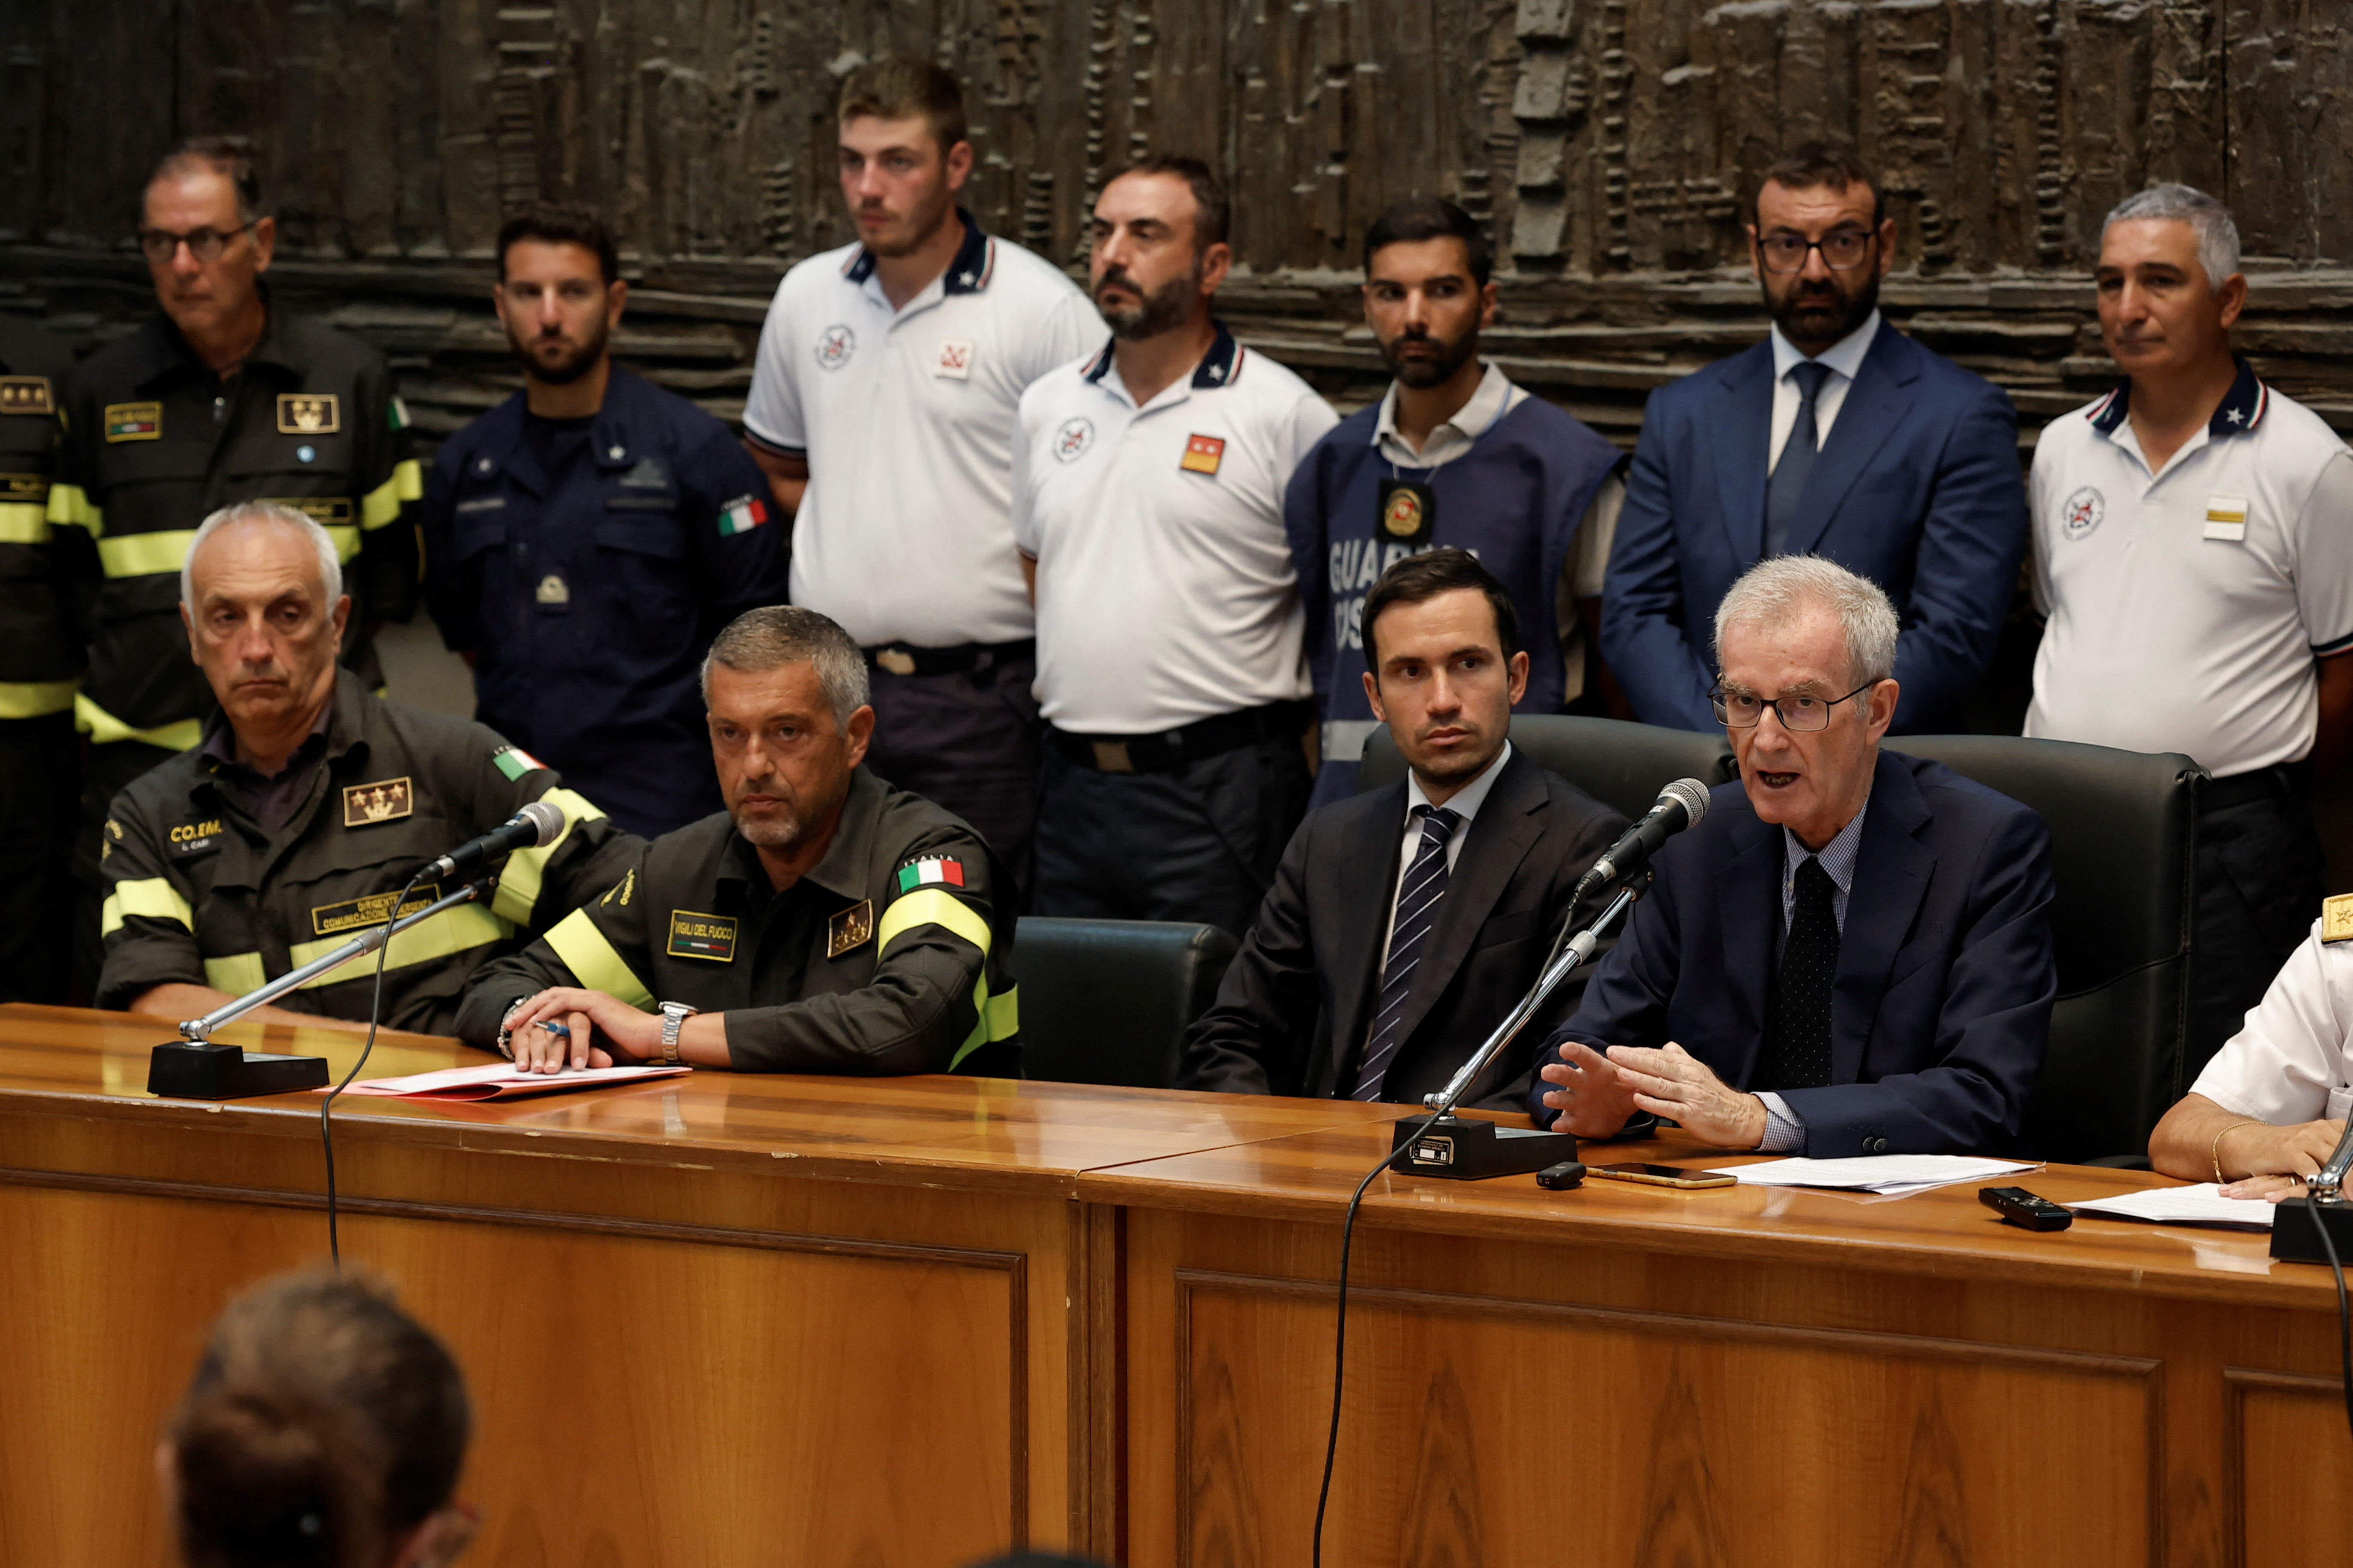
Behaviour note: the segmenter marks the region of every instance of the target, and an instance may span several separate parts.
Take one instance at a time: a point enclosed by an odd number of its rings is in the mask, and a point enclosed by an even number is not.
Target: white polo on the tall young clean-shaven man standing
[[[866,646],[1031,635],[1014,555],[1014,411],[1038,376],[1104,339],[1104,317],[1042,256],[981,233],[894,310],[864,244],[776,284],[744,430],[805,456],[793,604]]]

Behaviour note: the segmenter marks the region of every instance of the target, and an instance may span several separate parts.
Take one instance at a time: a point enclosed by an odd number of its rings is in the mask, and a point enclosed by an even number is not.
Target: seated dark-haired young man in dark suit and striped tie
[[[1419,1105],[1534,985],[1577,879],[1626,818],[1511,748],[1527,654],[1504,585],[1464,550],[1365,597],[1365,691],[1409,764],[1292,835],[1275,884],[1186,1037],[1179,1086]],[[1577,910],[1584,924],[1595,898]],[[1562,985],[1468,1105],[1522,1110]]]

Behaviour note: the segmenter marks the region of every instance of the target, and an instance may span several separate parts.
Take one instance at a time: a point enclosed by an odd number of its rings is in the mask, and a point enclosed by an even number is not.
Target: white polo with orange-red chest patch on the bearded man
[[[1047,722],[1148,736],[1308,696],[1282,489],[1337,423],[1224,327],[1141,409],[1111,346],[1021,395],[1014,541],[1038,562]]]

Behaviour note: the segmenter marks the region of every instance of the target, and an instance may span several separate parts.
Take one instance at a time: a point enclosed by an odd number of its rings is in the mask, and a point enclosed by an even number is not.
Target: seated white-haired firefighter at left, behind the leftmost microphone
[[[188,646],[219,717],[136,778],[106,818],[99,1006],[195,1018],[391,919],[402,884],[527,802],[562,809],[546,849],[506,860],[496,896],[391,940],[384,1023],[447,1034],[466,980],[638,863],[638,839],[494,731],[372,696],[334,661],[351,616],[334,541],[247,501],[188,552]],[[424,882],[412,914],[456,884]],[[254,1018],[367,1023],[374,961]]]

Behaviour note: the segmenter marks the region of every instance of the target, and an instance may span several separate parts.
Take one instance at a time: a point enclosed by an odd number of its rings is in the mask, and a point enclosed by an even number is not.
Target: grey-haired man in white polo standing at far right
[[[2125,381],[2035,447],[2028,736],[2186,752],[2198,816],[2186,1074],[2231,1039],[2322,893],[2308,783],[2353,741],[2353,454],[2231,353],[2238,226],[2155,186],[2101,233]]]

